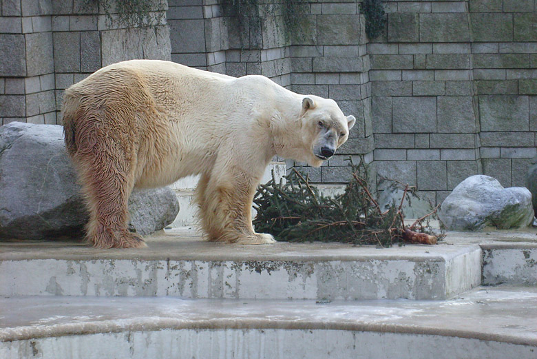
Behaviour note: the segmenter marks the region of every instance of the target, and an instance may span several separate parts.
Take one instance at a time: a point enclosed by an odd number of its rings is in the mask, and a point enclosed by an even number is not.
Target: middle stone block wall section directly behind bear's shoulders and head
[[[281,4],[257,2],[262,20],[246,21],[241,29],[236,19],[224,16],[217,0],[169,0],[171,59],[231,76],[262,74],[294,92],[337,101],[357,118],[337,156],[320,168],[286,163],[288,169],[302,167],[314,182],[343,183],[350,175],[346,158],[373,158],[369,57],[359,3],[305,1],[300,26],[291,30]]]

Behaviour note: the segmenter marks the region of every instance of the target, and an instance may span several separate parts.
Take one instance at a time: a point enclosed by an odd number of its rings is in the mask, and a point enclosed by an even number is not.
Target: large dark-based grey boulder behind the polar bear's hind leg
[[[142,235],[173,222],[173,190],[135,191],[131,228]],[[63,143],[63,127],[13,122],[0,127],[0,238],[81,238],[87,211]]]

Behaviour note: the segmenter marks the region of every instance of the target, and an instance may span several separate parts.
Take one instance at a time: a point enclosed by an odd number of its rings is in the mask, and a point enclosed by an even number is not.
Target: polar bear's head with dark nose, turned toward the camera
[[[304,160],[319,167],[347,141],[356,119],[352,115],[345,116],[334,100],[308,95],[302,99],[300,121],[302,141],[309,147]]]

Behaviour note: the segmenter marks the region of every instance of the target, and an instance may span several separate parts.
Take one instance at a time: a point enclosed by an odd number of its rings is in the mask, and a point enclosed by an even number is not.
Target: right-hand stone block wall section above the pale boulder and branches
[[[378,173],[437,203],[473,174],[524,186],[536,154],[534,1],[385,5],[385,32],[368,43]]]

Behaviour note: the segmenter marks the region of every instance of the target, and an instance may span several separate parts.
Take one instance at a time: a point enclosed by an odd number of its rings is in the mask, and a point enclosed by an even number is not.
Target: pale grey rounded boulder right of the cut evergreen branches
[[[524,187],[503,188],[489,176],[470,176],[445,198],[439,218],[448,229],[459,231],[527,227],[534,218],[531,193]]]

